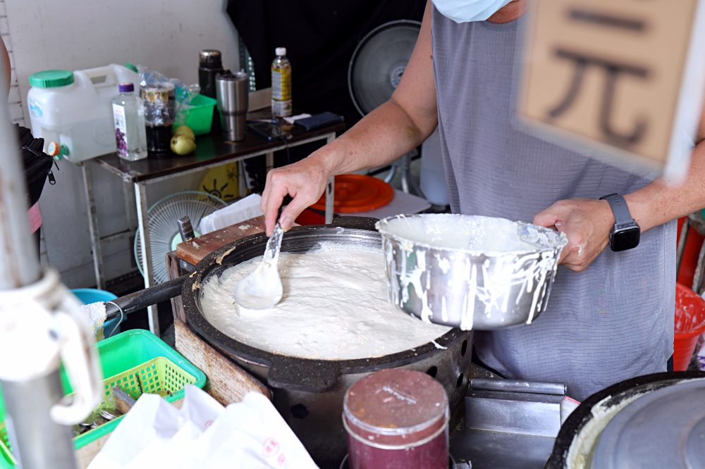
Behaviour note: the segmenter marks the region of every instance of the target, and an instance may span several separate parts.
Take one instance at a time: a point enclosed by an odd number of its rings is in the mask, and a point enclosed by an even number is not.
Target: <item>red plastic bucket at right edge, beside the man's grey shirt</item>
[[[673,370],[685,371],[698,337],[705,331],[705,301],[692,289],[675,284]]]

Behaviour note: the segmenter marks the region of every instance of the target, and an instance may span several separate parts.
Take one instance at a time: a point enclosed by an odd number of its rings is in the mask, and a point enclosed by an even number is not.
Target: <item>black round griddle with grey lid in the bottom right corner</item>
[[[548,469],[571,468],[586,428],[615,409],[585,467],[705,468],[705,373],[656,373],[626,380],[586,399],[560,428]]]

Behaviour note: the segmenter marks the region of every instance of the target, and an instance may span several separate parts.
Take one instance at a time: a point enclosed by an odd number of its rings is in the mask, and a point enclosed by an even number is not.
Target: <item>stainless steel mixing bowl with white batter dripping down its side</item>
[[[530,324],[546,308],[563,233],[474,215],[398,215],[376,223],[389,300],[462,330]]]

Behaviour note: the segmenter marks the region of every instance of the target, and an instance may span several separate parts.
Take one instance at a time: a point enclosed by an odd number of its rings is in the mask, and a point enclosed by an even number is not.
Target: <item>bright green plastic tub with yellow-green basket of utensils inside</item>
[[[147,330],[127,330],[96,345],[103,375],[109,376],[103,381],[105,394],[99,405],[101,410],[114,408],[110,390],[115,386],[121,387],[134,399],[143,392],[149,392],[161,394],[166,401],[173,402],[183,397],[185,384],[200,388],[206,384],[206,375],[201,370]],[[66,394],[71,394],[71,385],[63,369],[61,381]],[[14,467],[14,460],[8,451],[10,444],[4,418],[3,405],[0,404],[0,468],[11,469]],[[80,434],[73,439],[74,448],[82,448],[112,432],[121,420],[122,416],[90,432]]]

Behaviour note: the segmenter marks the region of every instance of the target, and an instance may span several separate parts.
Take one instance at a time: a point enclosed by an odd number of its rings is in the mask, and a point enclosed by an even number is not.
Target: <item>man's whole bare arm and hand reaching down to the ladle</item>
[[[267,235],[286,194],[293,200],[281,213],[284,229],[319,199],[329,177],[391,163],[424,142],[437,124],[429,1],[414,51],[391,99],[302,161],[267,173],[261,204]]]

